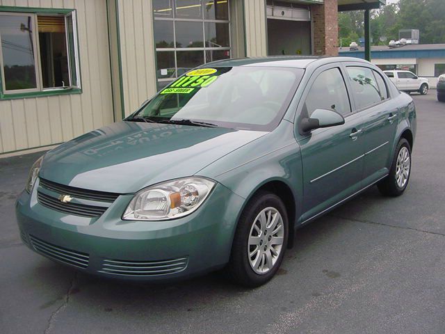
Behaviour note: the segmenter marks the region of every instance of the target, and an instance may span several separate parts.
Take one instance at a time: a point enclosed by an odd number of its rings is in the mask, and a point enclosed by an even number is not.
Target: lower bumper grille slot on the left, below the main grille
[[[29,235],[29,239],[31,240],[33,248],[42,255],[77,268],[85,269],[88,267],[90,256],[87,253],[49,244],[49,242],[38,239],[31,234]]]

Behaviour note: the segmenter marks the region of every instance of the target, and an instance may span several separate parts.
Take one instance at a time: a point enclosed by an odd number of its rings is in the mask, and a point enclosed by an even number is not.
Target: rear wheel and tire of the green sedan
[[[401,196],[405,191],[411,175],[411,147],[405,138],[397,144],[391,164],[391,170],[385,179],[380,181],[378,190],[384,196]]]

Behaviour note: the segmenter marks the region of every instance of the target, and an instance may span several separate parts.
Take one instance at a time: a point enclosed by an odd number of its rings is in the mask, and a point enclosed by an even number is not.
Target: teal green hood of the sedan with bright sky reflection
[[[117,122],[49,151],[40,177],[70,186],[134,193],[191,176],[266,132]]]

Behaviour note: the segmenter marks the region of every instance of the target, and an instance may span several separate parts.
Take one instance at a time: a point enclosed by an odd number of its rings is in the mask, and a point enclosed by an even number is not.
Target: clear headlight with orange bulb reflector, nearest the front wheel
[[[209,196],[215,182],[184,177],[149,186],[134,196],[122,216],[126,221],[161,221],[194,212]]]

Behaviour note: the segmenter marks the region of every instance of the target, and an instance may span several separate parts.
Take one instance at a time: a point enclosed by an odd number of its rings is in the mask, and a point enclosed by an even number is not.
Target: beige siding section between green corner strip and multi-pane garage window
[[[124,114],[156,93],[152,1],[118,0]]]

